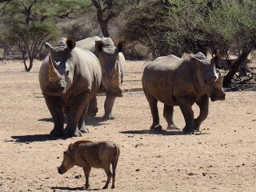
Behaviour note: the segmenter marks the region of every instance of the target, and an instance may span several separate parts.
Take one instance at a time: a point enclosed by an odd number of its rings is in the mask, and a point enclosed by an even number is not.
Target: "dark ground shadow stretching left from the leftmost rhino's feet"
[[[51,137],[50,134],[31,134],[31,135],[17,135],[11,136],[13,140],[7,142],[46,142],[46,141],[53,141],[60,138]]]

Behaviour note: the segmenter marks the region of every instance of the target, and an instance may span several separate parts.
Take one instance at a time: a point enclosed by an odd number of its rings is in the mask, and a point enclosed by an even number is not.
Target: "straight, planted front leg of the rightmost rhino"
[[[196,127],[194,125],[194,112],[192,110],[192,103],[190,101],[190,98],[178,98],[178,105],[182,110],[182,114],[186,122],[186,125],[182,131],[186,133],[194,132],[196,130]]]

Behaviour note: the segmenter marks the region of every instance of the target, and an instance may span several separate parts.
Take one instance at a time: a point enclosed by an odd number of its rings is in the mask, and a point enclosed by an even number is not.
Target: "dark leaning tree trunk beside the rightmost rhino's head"
[[[234,62],[234,64],[231,66],[230,71],[226,74],[226,76],[223,78],[223,86],[229,86],[231,83],[232,78],[234,77],[234,74],[238,72],[240,67],[242,66],[243,62],[246,61],[246,58],[248,54],[253,49],[246,49],[242,51],[242,54],[237,58],[237,60]]]

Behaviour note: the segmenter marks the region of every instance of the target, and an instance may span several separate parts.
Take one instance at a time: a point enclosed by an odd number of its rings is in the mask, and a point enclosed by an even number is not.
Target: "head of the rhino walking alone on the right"
[[[222,75],[216,71],[215,62],[221,59],[218,54],[211,60],[208,60],[202,53],[195,54],[191,58],[194,66],[199,86],[211,101],[225,100],[225,93],[222,88]]]

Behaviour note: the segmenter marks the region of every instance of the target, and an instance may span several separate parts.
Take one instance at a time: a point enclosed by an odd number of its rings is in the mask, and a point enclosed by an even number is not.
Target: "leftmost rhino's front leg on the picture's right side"
[[[78,122],[84,114],[85,108],[88,107],[89,92],[78,94],[70,101],[70,113],[66,117],[66,136],[80,137],[82,132],[78,129]]]

